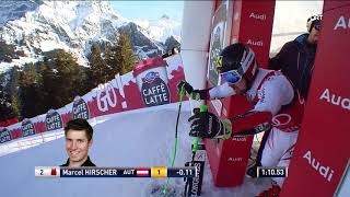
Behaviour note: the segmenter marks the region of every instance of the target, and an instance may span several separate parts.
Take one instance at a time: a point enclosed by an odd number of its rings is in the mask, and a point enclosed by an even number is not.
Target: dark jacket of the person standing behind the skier
[[[276,57],[269,60],[269,69],[281,70],[306,99],[317,45],[307,42],[308,34],[302,34],[285,43]]]

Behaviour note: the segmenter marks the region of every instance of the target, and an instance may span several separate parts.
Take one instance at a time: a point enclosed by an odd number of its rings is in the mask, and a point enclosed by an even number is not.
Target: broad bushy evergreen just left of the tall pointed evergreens
[[[45,111],[62,107],[77,95],[83,95],[90,90],[85,83],[88,77],[83,67],[62,49],[46,54],[40,74],[40,101]]]

